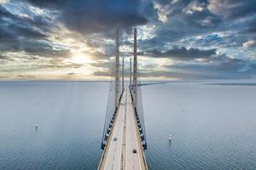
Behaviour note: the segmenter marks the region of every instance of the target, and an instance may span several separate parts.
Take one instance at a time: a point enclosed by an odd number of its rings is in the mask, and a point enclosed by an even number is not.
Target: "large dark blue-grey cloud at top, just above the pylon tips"
[[[117,26],[143,25],[142,3],[137,0],[28,0],[34,5],[61,11],[68,28],[82,33],[108,31]]]

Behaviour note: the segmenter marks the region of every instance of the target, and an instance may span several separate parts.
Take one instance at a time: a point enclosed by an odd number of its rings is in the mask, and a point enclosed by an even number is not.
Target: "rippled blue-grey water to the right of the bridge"
[[[201,84],[143,87],[148,167],[256,169],[256,87]]]

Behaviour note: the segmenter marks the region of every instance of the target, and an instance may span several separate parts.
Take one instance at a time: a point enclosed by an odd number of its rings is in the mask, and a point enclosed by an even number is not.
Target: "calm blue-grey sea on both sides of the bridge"
[[[107,98],[107,82],[0,82],[0,169],[96,169]],[[149,169],[256,169],[256,86],[144,86],[143,105]]]

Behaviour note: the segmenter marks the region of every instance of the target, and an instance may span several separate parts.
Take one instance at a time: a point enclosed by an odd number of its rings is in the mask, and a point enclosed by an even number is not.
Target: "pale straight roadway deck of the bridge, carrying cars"
[[[133,150],[137,150],[137,153],[133,153]],[[120,100],[98,169],[148,169],[128,88],[125,88]]]

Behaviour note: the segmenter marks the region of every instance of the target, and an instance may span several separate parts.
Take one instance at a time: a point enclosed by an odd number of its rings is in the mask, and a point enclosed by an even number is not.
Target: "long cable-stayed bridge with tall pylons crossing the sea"
[[[133,65],[130,58],[130,81],[125,85],[125,58],[119,63],[119,29],[116,31],[116,55],[109,85],[108,106],[102,135],[102,159],[99,170],[148,169],[143,117],[143,98],[137,65],[137,29],[134,28]]]

